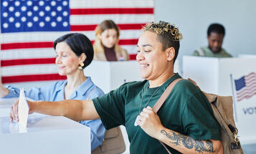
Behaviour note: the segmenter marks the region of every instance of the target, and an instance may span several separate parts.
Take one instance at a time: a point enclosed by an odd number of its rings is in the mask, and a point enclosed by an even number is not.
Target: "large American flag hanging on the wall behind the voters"
[[[131,59],[141,27],[154,21],[153,0],[0,0],[1,81],[4,84],[65,80],[54,64],[53,42],[80,32],[91,41],[95,27],[113,19],[119,44]]]

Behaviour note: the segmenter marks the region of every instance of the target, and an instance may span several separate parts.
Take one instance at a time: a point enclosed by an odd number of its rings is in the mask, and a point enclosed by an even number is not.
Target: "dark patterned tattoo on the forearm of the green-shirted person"
[[[181,145],[182,143],[184,147],[188,149],[194,148],[195,151],[199,153],[215,152],[212,141],[210,140],[206,140],[205,142],[203,142],[202,140],[194,140],[194,138],[191,138],[189,136],[184,136],[181,134],[176,134],[174,132],[167,133],[165,130],[161,130],[161,133],[163,135],[166,135],[167,138],[171,139],[172,141],[170,143],[173,143],[175,145]]]

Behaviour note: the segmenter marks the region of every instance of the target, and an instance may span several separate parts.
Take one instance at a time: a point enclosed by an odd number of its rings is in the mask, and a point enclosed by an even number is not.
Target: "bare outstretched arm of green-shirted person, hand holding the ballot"
[[[57,102],[28,102],[29,114],[39,112],[45,115],[65,116],[75,121],[99,119],[92,100],[62,100]],[[11,121],[19,121],[18,104],[11,106]]]

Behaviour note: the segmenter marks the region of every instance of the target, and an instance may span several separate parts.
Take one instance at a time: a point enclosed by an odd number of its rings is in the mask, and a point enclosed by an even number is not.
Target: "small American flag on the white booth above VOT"
[[[237,92],[238,102],[256,95],[256,73],[251,72],[238,80],[234,80],[234,85]]]

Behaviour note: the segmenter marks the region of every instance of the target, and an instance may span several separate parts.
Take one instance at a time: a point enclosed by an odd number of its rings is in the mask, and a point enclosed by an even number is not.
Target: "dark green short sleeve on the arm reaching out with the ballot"
[[[107,130],[125,124],[125,85],[93,99],[95,109]]]

